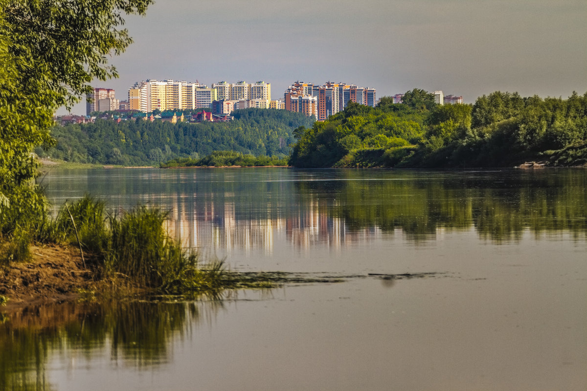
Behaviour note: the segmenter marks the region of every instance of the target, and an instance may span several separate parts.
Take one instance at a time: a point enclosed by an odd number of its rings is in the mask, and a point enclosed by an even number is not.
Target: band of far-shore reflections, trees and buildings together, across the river
[[[274,252],[340,249],[389,237],[434,240],[439,230],[474,229],[496,243],[534,234],[587,232],[587,171],[420,172],[376,170],[193,169],[58,171],[56,203],[83,192],[115,208],[171,210],[170,231],[185,246]]]

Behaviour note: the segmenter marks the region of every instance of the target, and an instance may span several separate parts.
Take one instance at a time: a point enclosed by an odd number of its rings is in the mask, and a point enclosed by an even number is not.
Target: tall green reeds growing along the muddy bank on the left
[[[16,226],[0,252],[23,259],[31,240],[79,245],[82,260],[84,252],[92,254],[97,275],[114,279],[124,276],[133,286],[156,294],[207,294],[216,298],[225,289],[274,284],[264,276],[229,273],[224,259],[201,263],[198,253],[184,250],[169,236],[167,219],[168,212],[147,206],[109,215],[102,200],[86,194],[76,202],[66,202],[55,217],[48,213],[33,215],[27,222],[29,229]]]

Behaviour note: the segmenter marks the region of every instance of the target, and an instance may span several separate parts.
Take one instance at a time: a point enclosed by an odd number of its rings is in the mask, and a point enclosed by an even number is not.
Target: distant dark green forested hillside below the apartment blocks
[[[284,158],[295,141],[293,132],[310,127],[313,118],[286,110],[235,110],[228,123],[199,124],[136,120],[116,123],[53,127],[54,147],[37,147],[39,157],[70,162],[153,165],[177,158],[199,159],[213,151],[228,150],[255,157]]]

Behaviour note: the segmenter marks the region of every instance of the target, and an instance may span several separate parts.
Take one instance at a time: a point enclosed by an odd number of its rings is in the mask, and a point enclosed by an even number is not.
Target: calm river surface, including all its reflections
[[[358,276],[0,325],[0,389],[585,390],[587,171],[54,170],[239,270]],[[369,273],[439,273],[390,281]]]

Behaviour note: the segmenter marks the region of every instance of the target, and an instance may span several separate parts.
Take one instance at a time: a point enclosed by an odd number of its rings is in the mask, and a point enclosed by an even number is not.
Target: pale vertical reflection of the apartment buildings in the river
[[[344,219],[328,213],[332,203],[322,200],[311,200],[303,204],[303,209],[298,206],[285,213],[272,213],[271,205],[266,205],[264,213],[251,213],[251,205],[247,204],[242,207],[247,212],[239,213],[234,193],[218,200],[196,198],[197,195],[176,194],[171,205],[167,204],[171,209],[169,233],[181,239],[185,247],[221,250],[227,255],[232,251],[261,251],[271,255],[277,237],[303,250],[314,246],[336,250],[356,242],[369,242],[380,233],[376,227],[350,230]],[[161,200],[141,202],[161,203]]]

